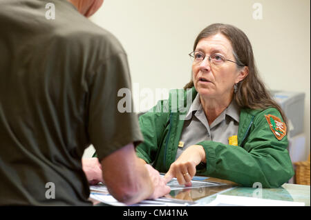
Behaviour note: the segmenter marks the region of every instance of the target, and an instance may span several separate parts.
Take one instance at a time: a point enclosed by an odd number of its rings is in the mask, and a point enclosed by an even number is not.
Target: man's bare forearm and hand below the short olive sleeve
[[[101,161],[105,184],[115,199],[126,204],[144,199],[156,199],[169,193],[158,171],[142,163],[135,154],[133,143],[109,154]]]

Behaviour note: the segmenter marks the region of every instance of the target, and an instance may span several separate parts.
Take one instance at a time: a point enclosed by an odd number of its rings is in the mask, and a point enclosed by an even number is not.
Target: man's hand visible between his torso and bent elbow
[[[102,165],[97,157],[82,159],[82,169],[90,185],[95,185],[99,182],[104,183],[104,179],[102,179]]]

